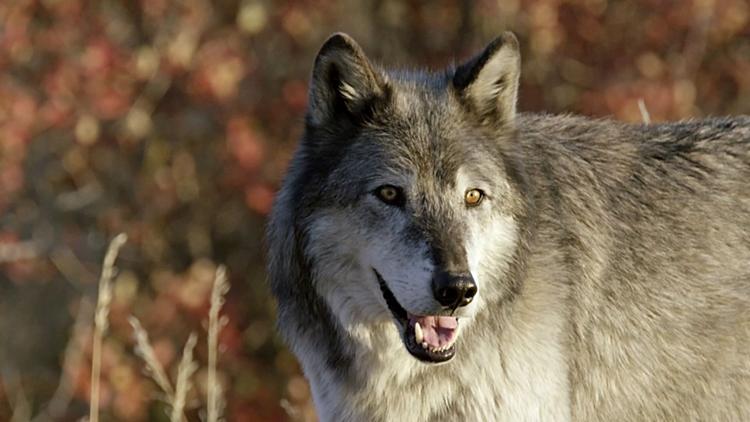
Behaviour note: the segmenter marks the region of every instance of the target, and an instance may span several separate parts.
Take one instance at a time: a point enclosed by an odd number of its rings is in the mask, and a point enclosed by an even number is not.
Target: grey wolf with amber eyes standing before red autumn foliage
[[[519,75],[512,33],[320,49],[267,243],[321,420],[750,420],[750,118],[520,113]]]

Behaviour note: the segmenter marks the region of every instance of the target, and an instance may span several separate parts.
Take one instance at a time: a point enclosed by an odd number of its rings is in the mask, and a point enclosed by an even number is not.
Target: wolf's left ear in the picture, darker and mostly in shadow
[[[309,118],[314,125],[356,116],[382,97],[386,84],[359,45],[336,33],[320,48],[310,82]]]

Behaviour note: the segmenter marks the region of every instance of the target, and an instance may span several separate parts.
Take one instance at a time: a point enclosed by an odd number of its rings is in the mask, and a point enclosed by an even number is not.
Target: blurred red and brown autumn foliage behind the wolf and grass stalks
[[[274,334],[263,227],[334,31],[376,62],[441,68],[518,35],[519,108],[653,121],[750,112],[745,0],[5,0],[0,2],[0,421],[88,411],[91,321],[108,241],[104,420],[167,420],[133,353],[200,335],[218,264],[230,421],[314,420]],[[205,408],[195,377],[189,420]]]

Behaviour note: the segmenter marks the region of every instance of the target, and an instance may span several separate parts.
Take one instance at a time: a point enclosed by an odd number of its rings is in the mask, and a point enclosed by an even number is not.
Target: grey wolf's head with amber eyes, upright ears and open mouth
[[[437,74],[382,71],[348,36],[326,41],[269,229],[280,318],[325,308],[351,333],[394,321],[409,353],[443,362],[512,294],[519,61],[511,33]]]

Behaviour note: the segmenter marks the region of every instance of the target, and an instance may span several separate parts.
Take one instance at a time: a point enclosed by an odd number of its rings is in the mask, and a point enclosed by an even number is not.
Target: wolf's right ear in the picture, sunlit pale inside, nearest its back
[[[520,73],[518,40],[512,32],[504,32],[481,54],[456,68],[453,86],[482,119],[512,123]]]

